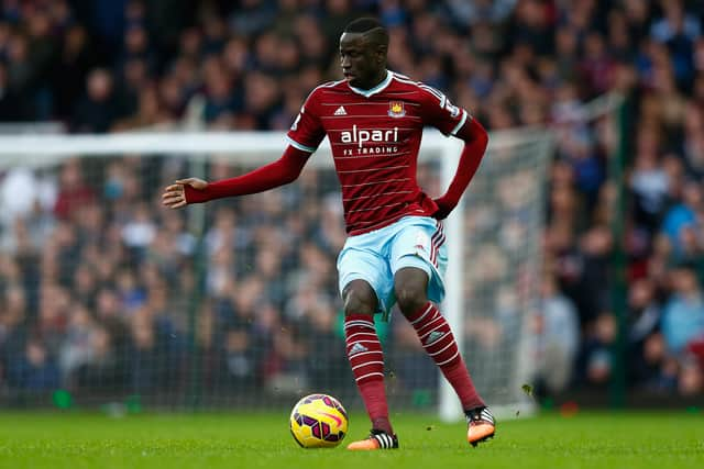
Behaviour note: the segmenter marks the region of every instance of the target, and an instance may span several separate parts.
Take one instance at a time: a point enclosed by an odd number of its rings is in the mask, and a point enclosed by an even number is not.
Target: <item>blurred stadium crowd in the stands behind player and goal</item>
[[[524,312],[539,364],[530,382],[549,395],[605,390],[619,370],[612,287],[623,244],[629,389],[702,395],[698,1],[2,0],[0,121],[177,129],[200,96],[208,129],[285,130],[315,86],[339,78],[339,34],[360,14],[389,29],[391,69],[447,91],[491,131],[557,131],[541,302]],[[612,234],[614,122],[583,105],[608,92],[625,97],[623,243]],[[237,170],[213,159],[208,178]],[[157,200],[188,174],[183,159],[4,170],[0,389],[175,393],[194,377],[223,397],[350,388],[334,270],[345,234],[322,172],[210,203],[200,244],[187,211]],[[383,327],[399,380],[433,389],[403,322]],[[503,327],[482,320],[469,342],[498,347]]]

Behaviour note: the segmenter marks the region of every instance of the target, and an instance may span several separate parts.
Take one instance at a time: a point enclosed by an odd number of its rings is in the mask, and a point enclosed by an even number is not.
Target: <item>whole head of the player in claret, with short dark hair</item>
[[[350,85],[371,88],[384,78],[388,32],[373,18],[360,18],[346,25],[340,36],[342,74]]]

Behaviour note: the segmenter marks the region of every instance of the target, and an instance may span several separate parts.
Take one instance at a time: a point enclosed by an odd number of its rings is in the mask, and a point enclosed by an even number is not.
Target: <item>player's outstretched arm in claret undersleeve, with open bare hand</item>
[[[246,175],[215,182],[198,178],[179,179],[164,189],[162,203],[179,209],[189,203],[264,192],[295,181],[309,156],[308,152],[288,146],[279,159]]]

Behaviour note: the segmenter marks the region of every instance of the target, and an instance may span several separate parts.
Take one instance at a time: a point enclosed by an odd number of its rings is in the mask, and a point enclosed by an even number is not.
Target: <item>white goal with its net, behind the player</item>
[[[284,188],[172,211],[173,180],[276,159],[280,133],[0,137],[0,402],[270,409],[308,392],[361,406],[344,356],[336,257],[345,239],[327,143]],[[419,182],[454,174],[461,142],[427,133]],[[450,319],[494,406],[527,402],[550,133],[492,135],[446,223]],[[378,323],[392,409],[459,415],[413,330]]]

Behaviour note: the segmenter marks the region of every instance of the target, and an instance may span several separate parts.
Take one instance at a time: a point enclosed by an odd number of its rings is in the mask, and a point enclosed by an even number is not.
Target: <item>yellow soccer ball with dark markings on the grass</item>
[[[302,448],[332,448],[348,433],[348,413],[332,395],[310,394],[294,406],[290,434]]]

